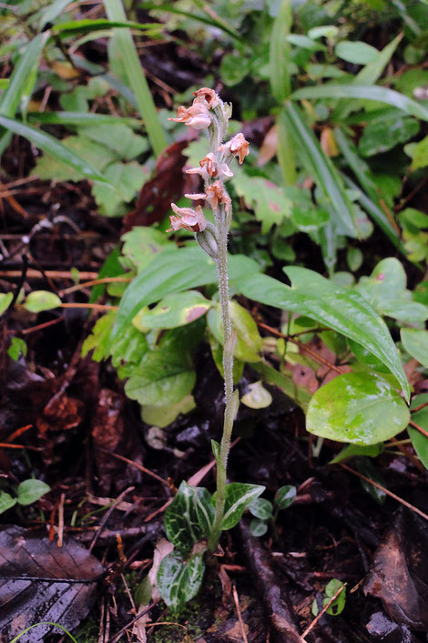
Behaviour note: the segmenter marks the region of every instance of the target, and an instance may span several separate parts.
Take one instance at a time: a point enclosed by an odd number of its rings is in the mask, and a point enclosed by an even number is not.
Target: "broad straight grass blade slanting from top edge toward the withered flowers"
[[[104,0],[108,19],[116,22],[126,22],[127,16],[121,0]],[[134,91],[138,102],[138,109],[144,119],[148,138],[155,156],[167,147],[167,139],[159,123],[153,98],[148,88],[148,81],[141,68],[138,53],[129,29],[115,30],[117,49],[123,59],[127,71],[129,85]]]

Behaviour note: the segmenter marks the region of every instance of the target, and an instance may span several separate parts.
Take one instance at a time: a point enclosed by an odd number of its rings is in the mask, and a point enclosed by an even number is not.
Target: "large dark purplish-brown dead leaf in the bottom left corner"
[[[62,547],[19,526],[0,529],[0,641],[6,643],[41,621],[73,629],[87,616],[104,567],[85,547]],[[20,643],[46,640],[49,625],[33,628]],[[52,630],[53,631],[53,630]]]

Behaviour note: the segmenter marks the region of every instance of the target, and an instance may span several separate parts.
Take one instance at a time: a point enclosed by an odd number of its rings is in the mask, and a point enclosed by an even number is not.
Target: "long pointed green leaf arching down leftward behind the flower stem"
[[[231,281],[257,270],[260,270],[258,264],[248,257],[229,257]],[[217,283],[216,264],[200,248],[162,252],[127,287],[120,301],[111,341],[117,340],[143,306],[161,300],[170,292],[187,291],[209,283]]]

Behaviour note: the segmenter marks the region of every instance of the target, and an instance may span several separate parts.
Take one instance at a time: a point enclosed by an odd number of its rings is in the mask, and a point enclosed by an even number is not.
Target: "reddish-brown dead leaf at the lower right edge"
[[[400,512],[375,552],[364,592],[381,598],[393,620],[428,631],[428,525]]]

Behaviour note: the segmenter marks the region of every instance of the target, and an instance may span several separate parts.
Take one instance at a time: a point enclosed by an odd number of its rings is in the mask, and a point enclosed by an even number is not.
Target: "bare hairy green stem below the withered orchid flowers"
[[[223,328],[223,373],[226,407],[224,411],[223,435],[221,437],[219,460],[217,463],[217,496],[214,523],[209,535],[209,549],[214,551],[219,545],[221,523],[224,515],[226,471],[230,449],[230,436],[236,413],[236,403],[233,394],[233,337],[230,322],[229,278],[228,278],[228,231],[229,225],[223,220],[219,225],[219,258],[217,271],[219,275],[219,301],[221,307],[221,323]]]

